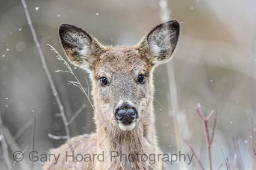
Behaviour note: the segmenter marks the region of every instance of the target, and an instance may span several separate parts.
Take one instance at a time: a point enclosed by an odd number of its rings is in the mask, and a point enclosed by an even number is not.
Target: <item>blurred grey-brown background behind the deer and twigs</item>
[[[70,125],[72,136],[95,131],[93,109],[87,98],[73,85],[68,73],[47,43],[66,59],[58,38],[58,26],[69,23],[84,28],[108,45],[137,44],[154,26],[161,23],[157,0],[26,0],[35,32],[50,74],[64,105],[67,119],[85,105]],[[224,162],[224,155],[234,169],[255,169],[252,136],[256,139],[256,1],[255,0],[169,0],[170,18],[181,26],[180,40],[172,62],[154,71],[157,136],[164,153],[177,153],[172,83],[175,77],[176,103],[180,133],[188,139],[206,169],[209,169],[207,144],[201,119],[195,111],[198,103],[205,116],[218,113],[212,143],[213,169]],[[88,91],[79,68],[73,71]],[[173,77],[172,77],[173,80]],[[90,81],[89,81],[89,88]],[[172,92],[172,93],[171,93]],[[24,8],[20,0],[0,0],[0,115],[5,136],[14,136],[29,167],[33,148],[34,116],[35,150],[48,153],[65,140],[55,140],[48,133],[64,136],[64,124],[42,66]],[[215,114],[214,113],[214,114]],[[209,121],[212,131],[214,116]],[[20,134],[17,134],[17,133]],[[0,138],[2,139],[2,138]],[[17,147],[17,146],[16,146]],[[238,156],[239,147],[240,156]],[[183,144],[185,153],[191,153]],[[9,155],[12,150],[9,149]],[[237,159],[240,157],[240,159]],[[13,169],[25,166],[17,162]],[[240,165],[239,165],[240,164]],[[43,163],[35,162],[35,169]],[[0,169],[5,170],[2,145]],[[178,169],[178,164],[168,164]],[[200,169],[193,159],[188,170]],[[221,169],[227,169],[222,166]]]

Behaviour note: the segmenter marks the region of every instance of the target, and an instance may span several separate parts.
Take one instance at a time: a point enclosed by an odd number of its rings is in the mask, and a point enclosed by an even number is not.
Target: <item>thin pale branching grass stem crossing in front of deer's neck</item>
[[[49,45],[49,44],[47,44],[47,45]],[[84,88],[82,87],[82,85],[81,85],[79,79],[78,79],[78,78],[76,77],[76,75],[74,74],[74,72],[73,72],[72,68],[70,67],[69,63],[61,57],[61,55],[58,53],[58,51],[57,51],[52,45],[49,45],[49,47],[51,47],[51,50],[54,51],[54,52],[57,54],[57,55],[56,55],[57,59],[58,59],[58,60],[61,60],[61,61],[63,62],[63,64],[66,66],[66,68],[68,69],[68,71],[64,71],[64,72],[68,72],[68,73],[72,74],[73,77],[75,78],[76,81],[68,81],[68,83],[69,83],[69,84],[72,84],[72,85],[74,85],[74,86],[76,86],[76,87],[78,87],[78,88],[83,92],[83,94],[87,97],[87,99],[88,99],[90,105],[91,105],[92,108],[93,108],[93,111],[94,111],[95,115],[96,115],[97,118],[99,119],[100,125],[102,126],[102,128],[104,129],[104,131],[105,131],[105,133],[106,133],[106,136],[108,137],[108,140],[109,140],[110,145],[111,145],[111,149],[112,149],[113,151],[115,151],[115,149],[114,149],[114,147],[113,147],[113,144],[112,144],[112,142],[111,142],[111,138],[110,138],[110,136],[109,136],[109,133],[108,133],[107,128],[105,128],[105,127],[103,126],[103,123],[102,123],[102,120],[100,119],[100,116],[98,115],[98,113],[96,112],[95,108],[93,107],[93,103],[91,102],[91,100],[90,100],[88,94],[84,91]],[[62,71],[61,71],[61,70],[58,70],[58,71],[56,71],[56,72],[62,72]],[[84,78],[86,79],[86,77],[84,77]],[[86,81],[87,81],[87,79],[86,79]],[[48,134],[48,136],[49,136],[49,134]],[[118,161],[119,161],[119,163],[120,163],[120,166],[121,166],[122,170],[124,170],[124,168],[122,167],[122,163],[121,163],[120,159],[118,159]]]

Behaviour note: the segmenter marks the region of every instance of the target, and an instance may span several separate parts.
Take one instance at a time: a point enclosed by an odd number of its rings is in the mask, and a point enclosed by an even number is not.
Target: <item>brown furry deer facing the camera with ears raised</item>
[[[153,71],[172,58],[179,23],[154,27],[137,45],[102,45],[69,24],[62,24],[58,33],[69,61],[90,74],[96,132],[51,150],[58,161],[47,162],[44,170],[165,170],[154,125]],[[143,154],[148,160],[140,159]],[[154,154],[157,160],[149,161]],[[77,155],[87,158],[81,161]]]

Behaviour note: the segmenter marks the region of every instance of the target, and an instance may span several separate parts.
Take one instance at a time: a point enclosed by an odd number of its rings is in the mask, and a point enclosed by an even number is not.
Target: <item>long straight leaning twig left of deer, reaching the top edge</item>
[[[63,107],[63,105],[61,103],[61,99],[58,96],[58,92],[57,92],[55,84],[54,84],[54,82],[52,80],[52,76],[51,76],[51,74],[49,72],[49,69],[47,67],[47,64],[45,62],[45,57],[44,57],[44,54],[43,54],[43,52],[41,50],[40,44],[38,42],[38,38],[37,38],[37,36],[35,34],[35,29],[34,29],[34,26],[33,26],[32,22],[31,22],[31,18],[30,18],[30,15],[29,15],[29,11],[27,9],[26,1],[25,0],[21,0],[21,2],[23,4],[23,8],[24,8],[24,11],[25,11],[25,14],[26,14],[26,18],[28,20],[28,24],[29,24],[30,30],[32,32],[33,39],[35,41],[35,45],[36,45],[36,47],[38,49],[38,52],[39,52],[39,55],[40,55],[40,58],[41,58],[41,62],[43,64],[43,66],[44,66],[44,70],[46,72],[46,75],[47,75],[50,87],[52,89],[52,93],[55,96],[56,102],[57,102],[58,107],[60,109],[60,113],[61,113],[61,117],[62,117],[63,122],[64,122],[64,127],[65,127],[66,134],[70,138],[70,130],[69,130],[69,127],[67,125],[67,117],[66,117],[65,112],[64,112],[64,107]]]

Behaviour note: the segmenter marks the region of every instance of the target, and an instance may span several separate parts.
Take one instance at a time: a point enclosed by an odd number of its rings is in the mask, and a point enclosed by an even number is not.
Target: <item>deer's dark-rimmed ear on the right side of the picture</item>
[[[162,64],[171,58],[180,34],[177,21],[168,21],[152,29],[135,47],[149,64]]]

